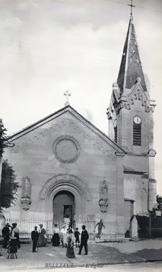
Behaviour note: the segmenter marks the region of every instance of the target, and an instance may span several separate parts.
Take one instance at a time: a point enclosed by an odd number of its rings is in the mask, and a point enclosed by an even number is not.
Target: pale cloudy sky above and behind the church
[[[0,117],[7,135],[70,105],[107,134],[130,0],[0,0]],[[162,195],[162,0],[134,0],[134,26],[154,118]]]

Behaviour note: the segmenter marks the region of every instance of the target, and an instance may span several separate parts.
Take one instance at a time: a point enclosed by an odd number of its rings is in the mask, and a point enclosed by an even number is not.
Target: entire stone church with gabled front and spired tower
[[[20,184],[11,219],[43,219],[72,227],[85,220],[131,221],[156,204],[153,110],[131,15],[117,83],[107,106],[108,135],[67,102],[9,136],[7,159]],[[68,95],[68,93],[67,93]]]

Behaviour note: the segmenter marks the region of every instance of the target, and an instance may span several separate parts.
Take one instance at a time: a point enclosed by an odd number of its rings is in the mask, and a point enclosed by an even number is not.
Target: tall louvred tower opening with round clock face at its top
[[[141,117],[139,115],[134,117],[133,145],[141,145]]]

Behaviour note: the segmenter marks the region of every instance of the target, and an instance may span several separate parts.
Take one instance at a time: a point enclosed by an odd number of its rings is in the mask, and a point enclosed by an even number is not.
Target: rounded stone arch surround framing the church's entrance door
[[[70,174],[58,174],[52,179],[48,179],[48,182],[44,184],[40,192],[42,209],[45,209],[45,219],[53,221],[53,202],[54,200],[55,202],[57,201],[55,197],[65,191],[72,195],[74,205],[72,219],[74,221],[73,228],[75,228],[75,224],[78,226],[78,224],[82,224],[85,221],[87,214],[86,204],[89,202],[90,205],[92,199],[87,184],[78,177]],[[61,220],[63,220],[63,217],[61,217]]]

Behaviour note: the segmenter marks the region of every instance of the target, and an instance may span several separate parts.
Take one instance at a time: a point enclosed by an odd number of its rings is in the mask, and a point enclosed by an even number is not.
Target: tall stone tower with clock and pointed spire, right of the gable
[[[136,213],[152,209],[156,204],[156,180],[154,179],[153,110],[156,104],[150,100],[144,78],[133,17],[129,21],[117,83],[112,85],[112,97],[107,109],[109,137],[125,148],[124,190],[130,190],[136,202]],[[144,192],[145,193],[144,193]],[[144,197],[147,194],[147,197]],[[142,203],[142,198],[146,199]],[[140,208],[137,202],[141,203]],[[141,210],[140,210],[141,209]]]

